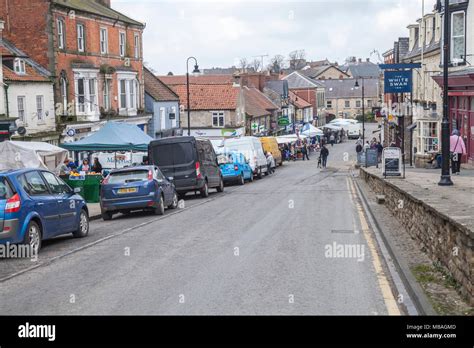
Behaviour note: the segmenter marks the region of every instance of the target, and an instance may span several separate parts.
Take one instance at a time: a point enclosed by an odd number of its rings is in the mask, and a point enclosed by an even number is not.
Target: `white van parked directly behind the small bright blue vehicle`
[[[268,171],[267,158],[260,140],[256,137],[229,138],[224,140],[224,152],[236,151],[244,154],[253,174],[261,178]]]

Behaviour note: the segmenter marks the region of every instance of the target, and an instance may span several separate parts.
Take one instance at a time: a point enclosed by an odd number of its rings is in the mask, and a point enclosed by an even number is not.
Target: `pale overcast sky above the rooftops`
[[[435,0],[425,0],[425,12]],[[241,57],[306,51],[307,59],[343,63],[368,58],[408,36],[421,17],[422,0],[112,0],[112,6],[146,23],[145,62],[159,74],[186,72],[186,58],[200,68],[238,66]],[[372,61],[377,56],[372,55]]]

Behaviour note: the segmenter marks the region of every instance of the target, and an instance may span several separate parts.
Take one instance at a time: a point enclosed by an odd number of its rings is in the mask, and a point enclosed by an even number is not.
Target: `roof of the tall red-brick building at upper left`
[[[56,6],[66,7],[75,11],[87,12],[97,16],[119,20],[121,22],[136,25],[139,27],[145,27],[144,23],[125,16],[124,14],[110,7],[104,6],[96,0],[51,0],[51,2]]]

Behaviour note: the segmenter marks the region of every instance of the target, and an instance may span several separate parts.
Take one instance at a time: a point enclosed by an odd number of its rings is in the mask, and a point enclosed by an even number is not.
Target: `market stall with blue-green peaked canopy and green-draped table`
[[[98,132],[73,143],[61,144],[61,147],[74,152],[147,152],[153,139],[136,125],[122,122],[108,122]],[[117,156],[114,155],[116,159]],[[102,173],[72,172],[66,179],[72,187],[81,189],[88,203],[99,202]]]

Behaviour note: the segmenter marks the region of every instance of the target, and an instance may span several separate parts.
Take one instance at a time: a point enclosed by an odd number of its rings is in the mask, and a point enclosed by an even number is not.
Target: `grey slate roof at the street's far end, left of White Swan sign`
[[[360,98],[361,88],[354,88],[356,79],[325,80],[322,83],[326,86],[326,99],[336,98]],[[364,94],[366,98],[378,98],[378,79],[364,79]],[[361,85],[359,80],[359,85]]]

